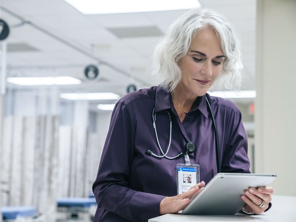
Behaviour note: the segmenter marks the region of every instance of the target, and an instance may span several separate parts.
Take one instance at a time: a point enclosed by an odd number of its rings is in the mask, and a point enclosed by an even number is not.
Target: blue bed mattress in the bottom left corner
[[[34,206],[6,206],[1,207],[3,219],[11,220],[17,216],[34,216],[36,208]]]

